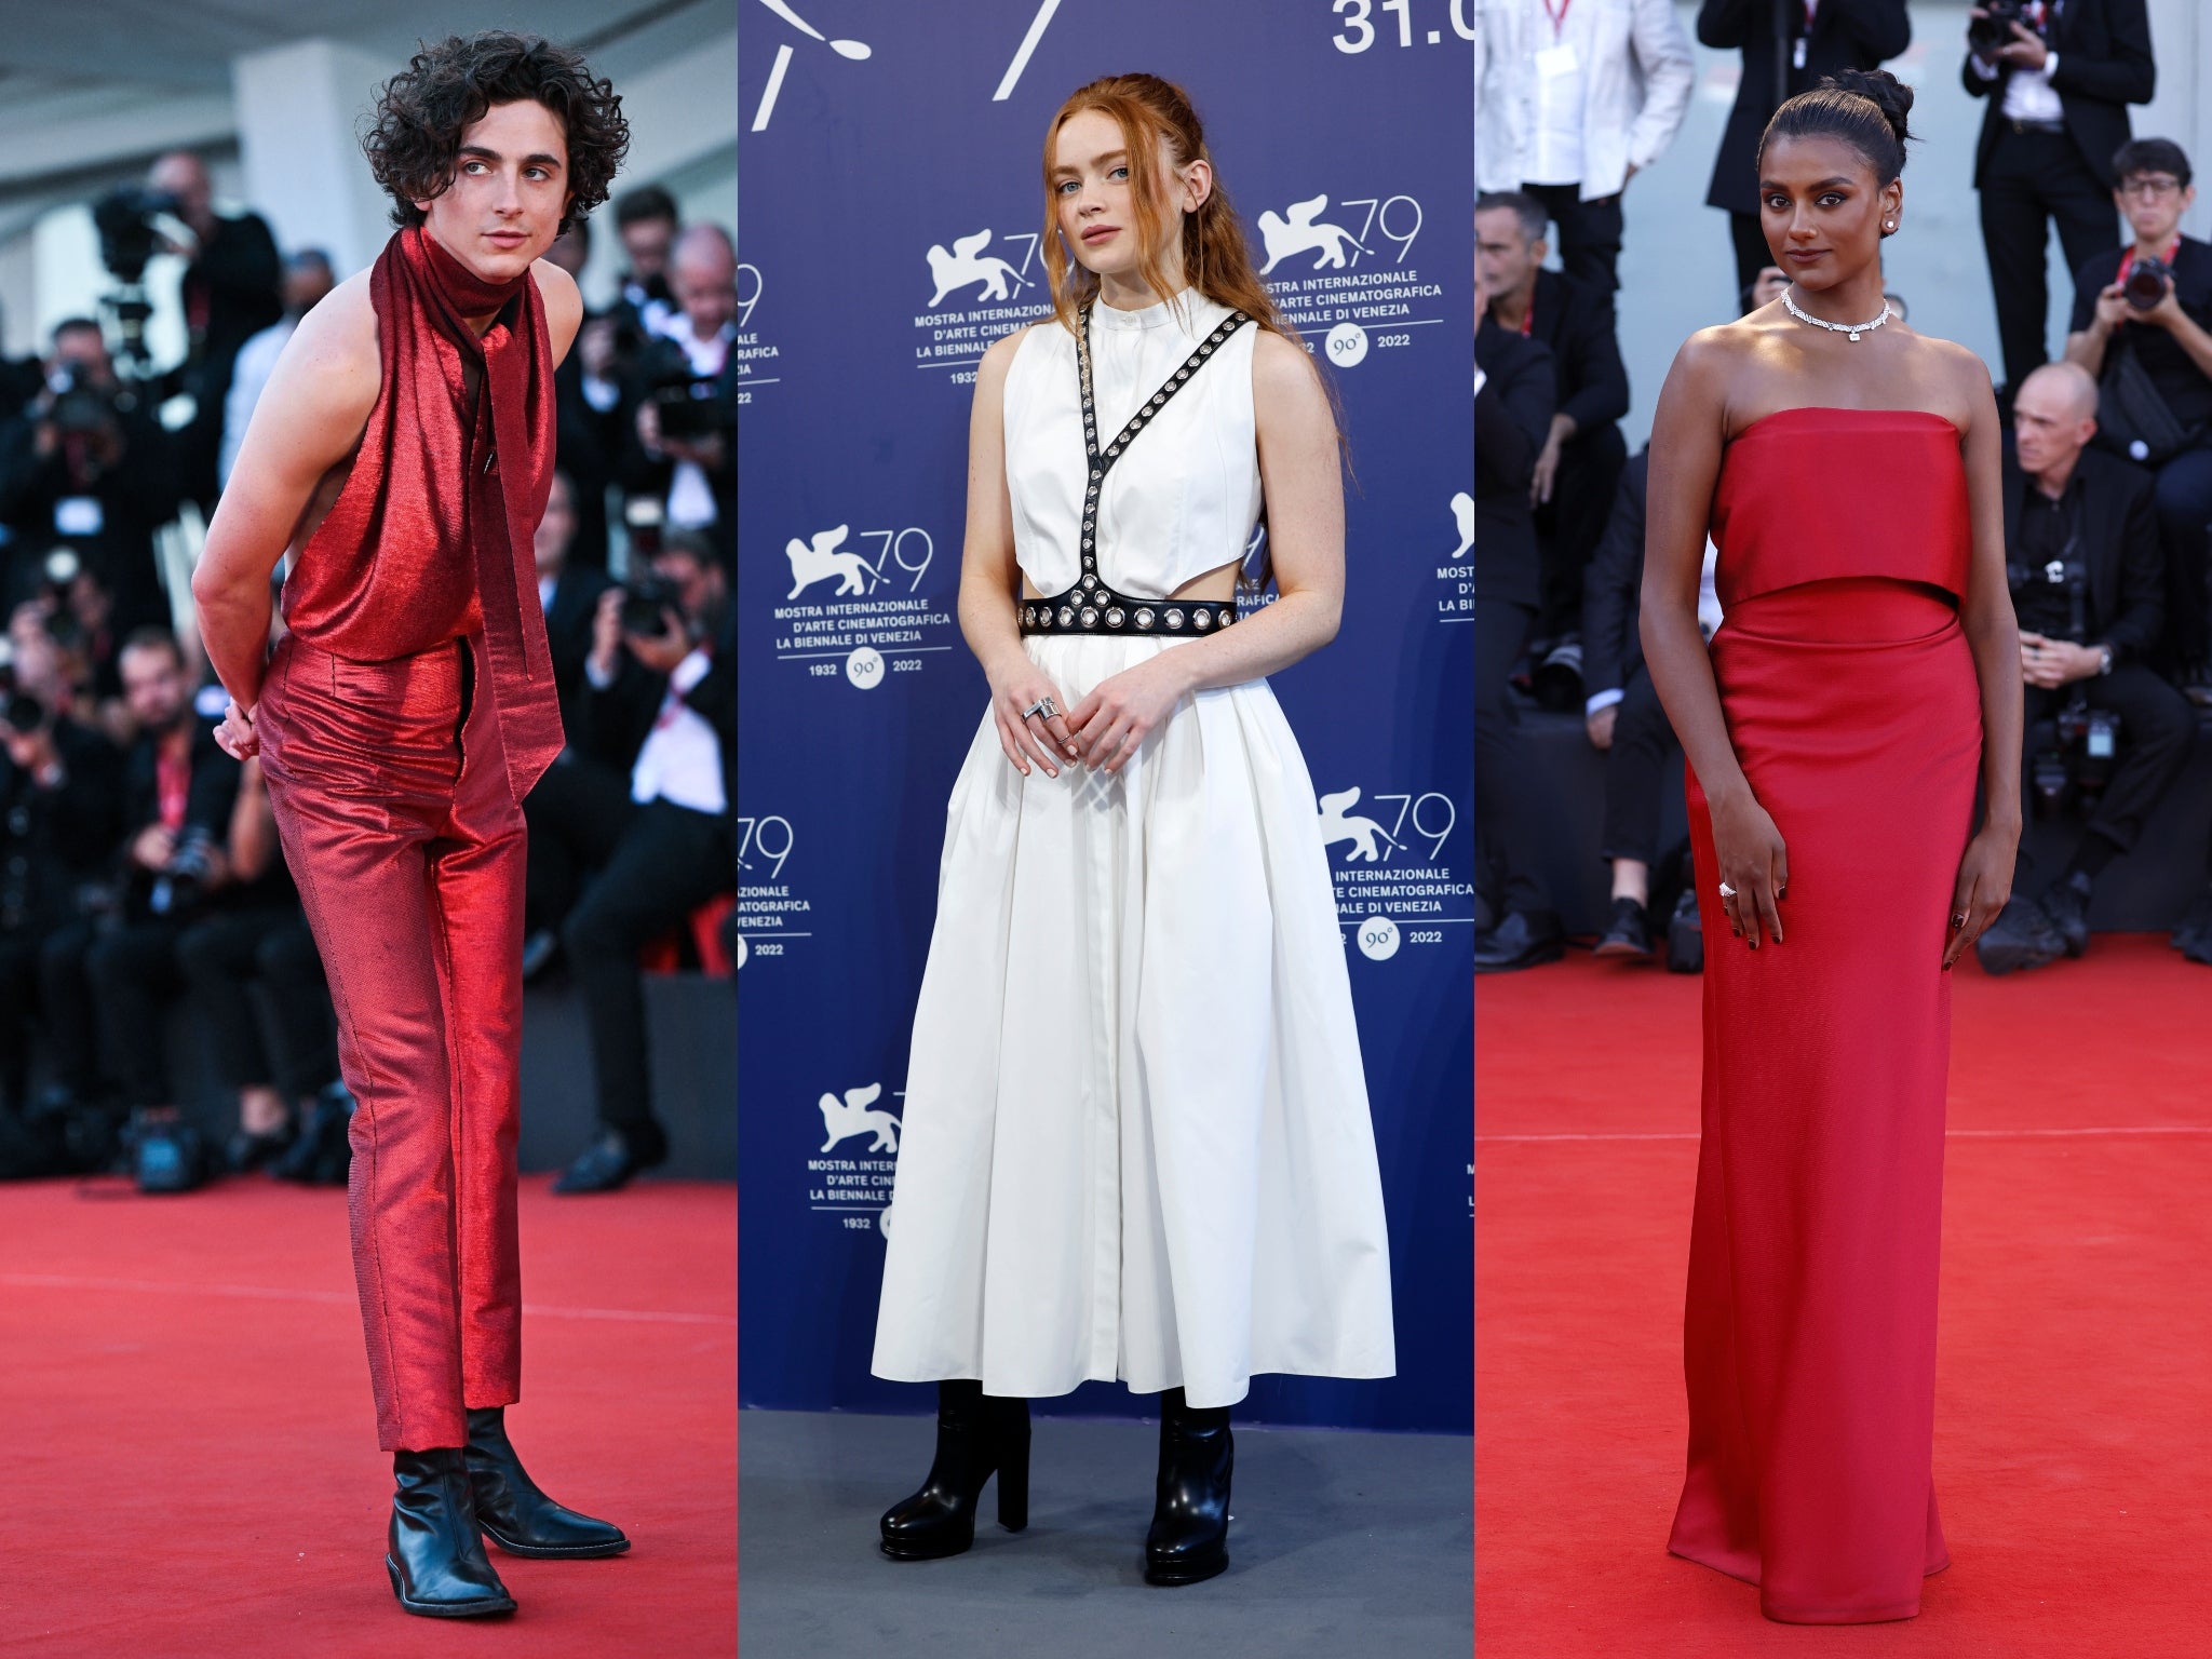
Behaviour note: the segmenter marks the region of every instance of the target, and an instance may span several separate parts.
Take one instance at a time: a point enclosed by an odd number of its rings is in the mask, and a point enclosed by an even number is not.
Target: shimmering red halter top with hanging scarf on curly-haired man
[[[553,487],[553,347],[529,272],[487,283],[420,226],[369,272],[383,383],[354,471],[285,582],[338,657],[434,650],[482,622],[515,799],[562,748],[533,540]],[[462,319],[495,312],[482,336]],[[465,358],[482,367],[471,403]]]

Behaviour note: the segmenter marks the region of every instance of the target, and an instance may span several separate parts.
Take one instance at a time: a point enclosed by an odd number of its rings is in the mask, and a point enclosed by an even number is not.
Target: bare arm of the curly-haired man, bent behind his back
[[[208,524],[192,599],[208,661],[232,701],[217,737],[239,759],[257,750],[252,710],[268,666],[270,573],[316,484],[361,440],[378,374],[376,312],[361,274],[332,290],[285,341]]]

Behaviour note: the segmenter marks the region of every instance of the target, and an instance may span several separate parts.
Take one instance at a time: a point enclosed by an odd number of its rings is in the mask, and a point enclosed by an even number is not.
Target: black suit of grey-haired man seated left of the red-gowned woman
[[[1575,422],[1575,436],[1559,445],[1551,500],[1533,509],[1540,553],[1535,630],[1553,639],[1582,626],[1582,571],[1606,533],[1606,509],[1628,458],[1615,425],[1628,414],[1628,369],[1610,294],[1555,270],[1535,274],[1528,338],[1551,347],[1555,414]]]

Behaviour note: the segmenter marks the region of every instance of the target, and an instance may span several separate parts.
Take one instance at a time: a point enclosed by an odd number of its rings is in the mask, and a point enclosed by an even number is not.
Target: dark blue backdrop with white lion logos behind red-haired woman
[[[1471,1429],[1471,0],[750,0],[739,219],[745,1405],[869,1376],[945,801],[987,708],[953,622],[975,358],[1048,307],[1040,153],[1102,73],[1179,82],[1343,389],[1338,639],[1274,686],[1321,792],[1389,1208],[1398,1376],[1241,1416]],[[958,15],[958,29],[949,18]],[[1135,1413],[1117,1385],[1040,1411]]]

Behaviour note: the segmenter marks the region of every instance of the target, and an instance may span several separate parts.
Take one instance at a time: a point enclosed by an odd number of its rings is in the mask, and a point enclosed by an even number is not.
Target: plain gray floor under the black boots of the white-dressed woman
[[[1128,1659],[1464,1659],[1473,1646],[1467,1436],[1237,1429],[1230,1571],[1141,1577],[1159,1429],[1035,1422],[1029,1528],[891,1562],[876,1517],[929,1469],[927,1418],[739,1416],[739,1644],[745,1659],[978,1652]]]

